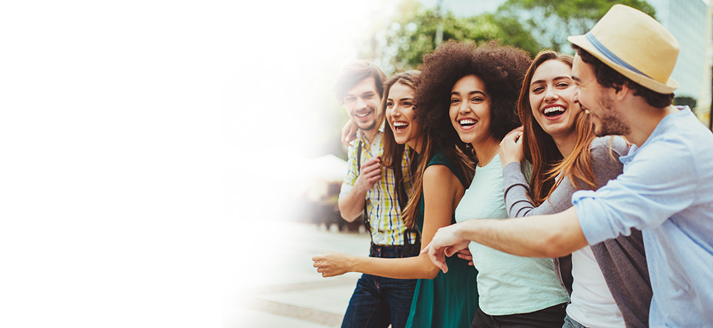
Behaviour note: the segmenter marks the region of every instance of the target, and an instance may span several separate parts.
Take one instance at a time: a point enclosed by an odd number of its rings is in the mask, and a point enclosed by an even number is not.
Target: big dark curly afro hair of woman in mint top
[[[448,41],[424,56],[419,66],[414,118],[424,132],[443,148],[464,143],[453,128],[448,111],[451,89],[463,76],[475,75],[486,84],[491,97],[491,134],[501,140],[520,125],[517,102],[530,55],[512,46],[498,46],[490,41],[481,46],[473,42]]]

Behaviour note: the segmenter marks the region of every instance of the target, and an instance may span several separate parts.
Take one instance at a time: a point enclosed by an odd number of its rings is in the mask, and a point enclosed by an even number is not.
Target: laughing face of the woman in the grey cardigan
[[[540,64],[530,82],[530,107],[535,121],[553,138],[568,138],[575,133],[580,108],[572,102],[576,91],[572,68],[558,60]]]

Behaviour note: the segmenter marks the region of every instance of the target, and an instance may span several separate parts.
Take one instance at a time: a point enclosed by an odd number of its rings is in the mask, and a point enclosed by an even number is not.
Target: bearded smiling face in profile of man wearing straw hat
[[[577,55],[572,66],[572,78],[577,84],[574,101],[580,104],[583,111],[589,114],[594,123],[594,134],[628,135],[630,133],[627,120],[614,106],[612,88],[605,88],[597,82],[594,68],[582,61]]]

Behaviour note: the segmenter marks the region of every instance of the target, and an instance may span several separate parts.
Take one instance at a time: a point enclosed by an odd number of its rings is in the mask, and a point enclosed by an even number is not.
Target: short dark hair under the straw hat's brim
[[[582,61],[592,66],[595,76],[597,76],[597,83],[601,84],[603,87],[614,88],[616,91],[619,91],[621,86],[626,83],[627,86],[634,91],[634,96],[641,96],[646,99],[646,103],[656,108],[664,108],[671,105],[673,102],[673,93],[657,93],[650,88],[646,88],[639,83],[631,81],[630,78],[623,76],[621,73],[615,71],[614,68],[607,66],[607,64],[603,63],[599,60],[599,58],[593,56],[583,48],[580,48],[575,44],[572,45],[572,48],[577,51],[577,54],[582,58]]]

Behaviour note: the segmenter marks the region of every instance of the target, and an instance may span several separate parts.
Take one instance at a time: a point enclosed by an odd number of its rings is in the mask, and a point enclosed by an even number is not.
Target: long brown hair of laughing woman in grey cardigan
[[[530,82],[542,63],[553,60],[561,61],[572,68],[572,56],[551,50],[540,51],[525,73],[518,100],[518,113],[524,128],[523,156],[533,164],[532,178],[530,179],[530,200],[535,205],[542,204],[565,176],[569,176],[570,181],[578,189],[585,187],[594,189],[596,186],[590,155],[590,145],[595,134],[594,125],[589,120],[589,116],[583,111],[577,114],[575,118],[577,145],[568,158],[563,158],[555,140],[543,130],[540,123],[533,117],[530,104]],[[560,173],[562,175],[555,181]]]

